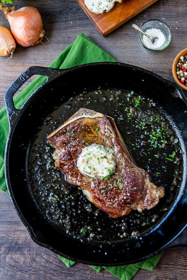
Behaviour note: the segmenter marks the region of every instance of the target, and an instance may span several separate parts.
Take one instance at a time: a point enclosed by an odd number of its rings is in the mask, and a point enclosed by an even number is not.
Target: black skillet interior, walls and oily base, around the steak
[[[126,108],[133,106],[138,114],[131,119]],[[53,149],[46,136],[81,107],[112,116],[137,165],[149,172],[155,184],[165,187],[165,198],[151,211],[133,211],[114,221],[89,203],[82,192],[66,184],[54,162],[47,167]],[[185,110],[185,102],[172,83],[123,65],[77,68],[45,85],[22,112],[9,150],[12,191],[34,239],[71,259],[95,264],[134,262],[164,246],[183,225],[180,220],[185,221],[185,201],[180,200],[183,208],[171,209],[180,199],[185,183]],[[138,119],[142,112],[147,112],[148,122],[152,120],[148,128],[141,124],[142,118]],[[156,124],[163,122],[168,149],[157,145],[150,150],[149,145],[142,144],[148,139],[144,132],[159,128]],[[56,199],[48,203],[51,192]],[[72,209],[79,212],[74,215]],[[161,221],[165,226],[156,229]],[[153,241],[161,236],[159,244]]]

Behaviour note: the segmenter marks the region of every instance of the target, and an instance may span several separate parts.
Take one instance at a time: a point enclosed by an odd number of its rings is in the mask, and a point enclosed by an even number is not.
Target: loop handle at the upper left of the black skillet
[[[63,70],[62,70],[63,71]],[[54,76],[57,74],[60,74],[59,69],[54,69],[54,68],[48,68],[48,67],[40,67],[40,66],[32,66],[27,68],[18,78],[15,80],[12,85],[7,89],[5,93],[5,106],[7,110],[7,116],[8,116],[8,121],[9,121],[9,127],[12,127],[12,124],[15,119],[19,116],[23,105],[25,102],[45,83],[50,81]],[[16,109],[13,103],[13,96],[16,93],[16,91],[28,80],[32,75],[42,75],[46,76],[46,81],[44,81],[41,85],[39,85],[32,93],[31,95],[27,98],[27,100],[24,102],[22,107],[20,109]]]

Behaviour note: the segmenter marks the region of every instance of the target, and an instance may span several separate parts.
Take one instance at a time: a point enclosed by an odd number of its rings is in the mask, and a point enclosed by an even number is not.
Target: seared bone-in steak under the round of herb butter
[[[111,117],[81,108],[47,139],[55,147],[55,165],[67,182],[83,189],[90,201],[113,218],[132,209],[151,209],[164,196],[164,189],[151,183],[147,172],[135,165]],[[79,154],[93,143],[112,147],[115,153],[116,174],[108,180],[90,178],[78,170]]]

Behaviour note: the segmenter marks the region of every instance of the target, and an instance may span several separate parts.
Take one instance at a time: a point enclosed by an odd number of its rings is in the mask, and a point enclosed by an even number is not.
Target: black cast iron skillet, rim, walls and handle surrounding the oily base
[[[32,75],[45,75],[46,82],[34,91],[24,105],[15,109],[12,97]],[[28,191],[26,179],[27,147],[35,133],[38,121],[65,102],[78,89],[121,88],[140,92],[154,99],[181,131],[184,173],[182,184],[172,207],[162,220],[141,238],[114,242],[81,242],[48,223],[37,209]],[[51,88],[53,93],[51,94]],[[63,94],[62,94],[63,92]],[[31,67],[22,73],[5,94],[9,119],[9,134],[5,151],[5,177],[14,208],[26,226],[31,238],[68,259],[92,265],[124,265],[147,259],[158,252],[179,245],[187,245],[187,110],[181,89],[154,73],[122,63],[92,63],[60,70]]]

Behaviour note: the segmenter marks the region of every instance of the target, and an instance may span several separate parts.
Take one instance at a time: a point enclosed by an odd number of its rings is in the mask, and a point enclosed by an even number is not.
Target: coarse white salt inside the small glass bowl
[[[157,37],[155,39],[154,44],[151,42],[151,40],[143,35],[143,42],[149,49],[159,49],[163,44],[165,43],[165,35],[164,33],[157,28],[150,28],[145,31],[145,33],[151,37]]]

